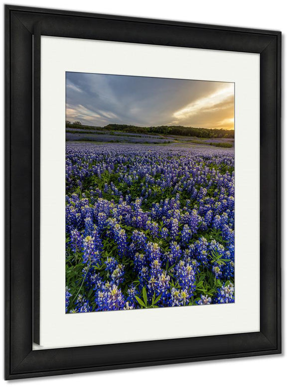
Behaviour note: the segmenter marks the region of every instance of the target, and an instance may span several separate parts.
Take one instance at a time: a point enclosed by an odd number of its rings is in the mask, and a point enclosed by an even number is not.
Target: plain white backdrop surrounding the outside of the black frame
[[[253,2],[252,0],[242,0],[238,2],[232,2],[231,0],[206,0],[194,2],[191,0],[179,0],[175,1],[155,1],[146,0],[145,2],[137,2],[132,0],[110,0],[105,3],[95,1],[74,1],[69,2],[63,0],[50,0],[50,1],[9,1],[9,3],[30,5],[30,6],[43,6],[54,7],[71,10],[81,10],[88,12],[102,12],[111,14],[123,14],[140,17],[151,17],[160,19],[175,19],[184,20],[189,22],[211,23],[211,24],[224,24],[233,26],[246,26],[256,27],[264,29],[278,29],[282,30],[283,36],[283,90],[289,87],[288,80],[285,73],[286,60],[288,59],[286,35],[289,31],[288,17],[285,9],[286,2],[283,0]],[[1,2],[3,4],[3,2]],[[3,9],[2,12],[3,20]],[[3,31],[3,30],[2,30]],[[1,44],[3,38],[1,39]],[[3,55],[3,48],[1,49],[1,55]],[[3,60],[0,62],[0,66],[3,65]],[[2,70],[3,74],[3,70]],[[3,83],[3,78],[1,80]],[[1,95],[3,99],[3,94]],[[285,93],[283,95],[283,108],[285,108]],[[3,104],[1,104],[2,117],[3,117]],[[287,112],[283,109],[283,128],[286,128],[286,116]],[[288,152],[285,153],[286,147],[289,146],[289,136],[285,130],[283,130],[283,197],[289,197],[289,156]],[[3,142],[1,142],[0,152],[3,154]],[[3,169],[2,169],[3,171]],[[2,181],[1,181],[2,184]],[[2,194],[3,190],[1,190]],[[1,204],[3,201],[1,201]],[[1,208],[1,213],[3,208]],[[288,225],[286,222],[287,216],[289,216],[289,207],[284,201],[283,206],[283,236],[287,236],[289,233]],[[3,225],[3,224],[2,224]],[[285,240],[285,238],[284,238]],[[3,239],[1,239],[1,243]],[[286,296],[288,286],[285,284],[285,273],[288,270],[286,263],[286,257],[289,252],[287,247],[283,247],[283,300],[285,301],[283,308],[283,320],[287,323],[288,309],[285,309]],[[3,272],[3,271],[2,271]],[[203,362],[195,364],[183,364],[175,366],[163,366],[153,368],[140,368],[135,370],[115,371],[115,372],[102,372],[82,375],[72,375],[64,377],[51,377],[42,379],[29,379],[26,381],[18,382],[0,382],[4,384],[22,384],[33,386],[51,386],[56,387],[67,384],[70,387],[77,387],[80,384],[91,385],[105,385],[106,387],[157,387],[161,384],[164,387],[182,387],[194,386],[194,387],[255,387],[256,385],[262,387],[272,386],[286,386],[288,383],[288,363],[289,357],[287,356],[288,339],[286,333],[285,323],[283,325],[283,355],[278,356],[265,356],[245,358],[239,360],[229,361],[217,361],[217,362]],[[3,338],[3,335],[2,335]],[[1,338],[1,339],[2,339]],[[2,356],[2,354],[1,354]],[[2,365],[3,363],[1,363]],[[3,375],[2,375],[3,378]]]

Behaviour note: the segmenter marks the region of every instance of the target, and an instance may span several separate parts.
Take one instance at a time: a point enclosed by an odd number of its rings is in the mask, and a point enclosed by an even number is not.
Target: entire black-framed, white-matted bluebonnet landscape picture
[[[281,32],[5,6],[6,379],[281,353]]]

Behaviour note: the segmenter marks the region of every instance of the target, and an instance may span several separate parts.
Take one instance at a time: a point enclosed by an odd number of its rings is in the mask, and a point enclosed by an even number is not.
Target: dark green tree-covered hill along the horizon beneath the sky
[[[101,129],[101,130],[119,130],[122,132],[134,132],[134,133],[158,133],[158,134],[170,134],[178,136],[195,136],[195,137],[209,137],[209,138],[234,138],[235,131],[228,129],[208,129],[208,128],[193,128],[182,126],[159,126],[159,127],[137,127],[127,124],[109,124],[105,127],[93,127],[84,126],[79,122],[71,124],[65,123],[66,128],[78,128],[78,129]]]

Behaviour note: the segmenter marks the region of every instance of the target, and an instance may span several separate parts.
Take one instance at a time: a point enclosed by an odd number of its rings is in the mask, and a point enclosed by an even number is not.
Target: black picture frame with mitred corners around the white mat
[[[41,35],[260,54],[260,332],[32,351]],[[281,353],[280,100],[279,31],[5,5],[6,379]]]

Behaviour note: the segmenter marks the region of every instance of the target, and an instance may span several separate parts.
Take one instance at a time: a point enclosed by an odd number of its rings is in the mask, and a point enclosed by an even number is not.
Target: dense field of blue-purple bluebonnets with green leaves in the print
[[[66,312],[234,302],[234,150],[66,145]]]

